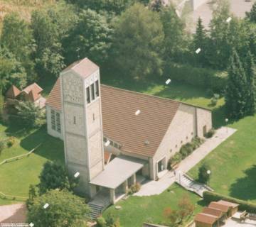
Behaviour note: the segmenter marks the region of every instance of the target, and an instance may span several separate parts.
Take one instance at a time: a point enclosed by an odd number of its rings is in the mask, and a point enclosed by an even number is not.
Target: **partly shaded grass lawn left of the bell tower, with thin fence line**
[[[0,124],[2,136],[16,135],[16,143],[13,147],[3,150],[0,162],[9,157],[28,153],[39,144],[41,146],[29,157],[0,165],[0,192],[26,197],[29,185],[38,184],[38,175],[47,160],[58,160],[64,163],[63,142],[47,135],[45,127],[28,134],[25,133],[24,136],[17,135],[15,131],[14,128],[7,128]],[[18,134],[23,134],[23,132]],[[8,203],[10,201],[0,199],[0,204]]]

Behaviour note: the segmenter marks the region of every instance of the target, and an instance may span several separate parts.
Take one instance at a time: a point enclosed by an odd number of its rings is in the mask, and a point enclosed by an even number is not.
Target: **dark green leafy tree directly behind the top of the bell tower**
[[[112,28],[107,18],[90,9],[79,14],[73,31],[64,41],[65,58],[68,63],[83,57],[89,57],[94,62],[105,62],[110,49]]]

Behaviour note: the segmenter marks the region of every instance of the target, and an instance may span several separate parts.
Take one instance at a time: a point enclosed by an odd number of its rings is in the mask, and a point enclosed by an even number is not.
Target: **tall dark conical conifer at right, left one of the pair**
[[[234,50],[228,69],[228,83],[225,93],[225,104],[231,118],[242,118],[247,114],[247,78],[240,62],[238,53]]]

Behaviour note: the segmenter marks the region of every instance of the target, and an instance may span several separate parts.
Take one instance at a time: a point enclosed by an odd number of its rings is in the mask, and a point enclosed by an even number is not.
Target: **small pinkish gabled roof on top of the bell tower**
[[[70,70],[76,72],[81,77],[86,78],[89,77],[92,73],[99,70],[99,67],[95,63],[90,61],[87,57],[85,57],[84,59],[78,60],[73,64],[69,65],[61,73],[68,72]]]

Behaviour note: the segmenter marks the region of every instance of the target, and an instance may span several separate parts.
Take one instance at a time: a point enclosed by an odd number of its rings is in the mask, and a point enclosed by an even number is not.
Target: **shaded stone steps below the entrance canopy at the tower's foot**
[[[95,197],[88,203],[91,209],[90,218],[95,220],[102,212],[110,206],[110,192],[108,190],[102,189],[98,192]]]

